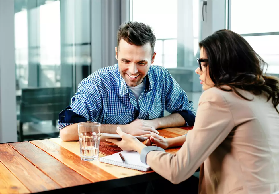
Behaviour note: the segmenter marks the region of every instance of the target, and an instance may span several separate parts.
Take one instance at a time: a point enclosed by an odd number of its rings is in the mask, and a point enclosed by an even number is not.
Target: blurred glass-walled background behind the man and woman
[[[0,0],[0,142],[57,137],[58,114],[79,82],[117,63],[116,32],[127,21],[154,29],[154,65],[169,70],[195,109],[198,42],[216,30],[241,34],[278,76],[278,7],[278,0]]]

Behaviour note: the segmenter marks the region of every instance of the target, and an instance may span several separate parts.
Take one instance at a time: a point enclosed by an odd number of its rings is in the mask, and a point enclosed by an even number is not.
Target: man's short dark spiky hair
[[[127,22],[122,24],[117,32],[117,50],[119,50],[119,42],[123,39],[130,45],[142,46],[147,43],[151,45],[151,54],[154,52],[156,36],[149,25],[142,22]]]

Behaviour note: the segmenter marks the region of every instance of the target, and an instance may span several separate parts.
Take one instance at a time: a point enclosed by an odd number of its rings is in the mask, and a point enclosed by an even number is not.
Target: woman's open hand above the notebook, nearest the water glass
[[[141,143],[137,138],[130,134],[124,133],[120,127],[117,127],[116,132],[121,137],[121,141],[115,140],[115,139],[106,139],[107,142],[111,142],[116,144],[118,147],[120,147],[122,150],[132,150],[141,152],[141,150],[146,147],[143,143]]]

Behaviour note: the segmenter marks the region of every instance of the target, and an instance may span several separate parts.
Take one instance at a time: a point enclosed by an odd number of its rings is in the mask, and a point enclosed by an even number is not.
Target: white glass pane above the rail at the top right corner
[[[231,1],[231,30],[239,34],[277,32],[278,0]]]

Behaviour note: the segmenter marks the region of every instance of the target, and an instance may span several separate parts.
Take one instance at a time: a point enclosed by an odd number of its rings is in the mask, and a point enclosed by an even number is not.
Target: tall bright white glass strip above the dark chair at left
[[[60,1],[41,5],[40,17],[40,87],[59,87],[56,79],[60,66]],[[51,15],[49,13],[52,13]],[[51,57],[50,57],[51,56]]]

